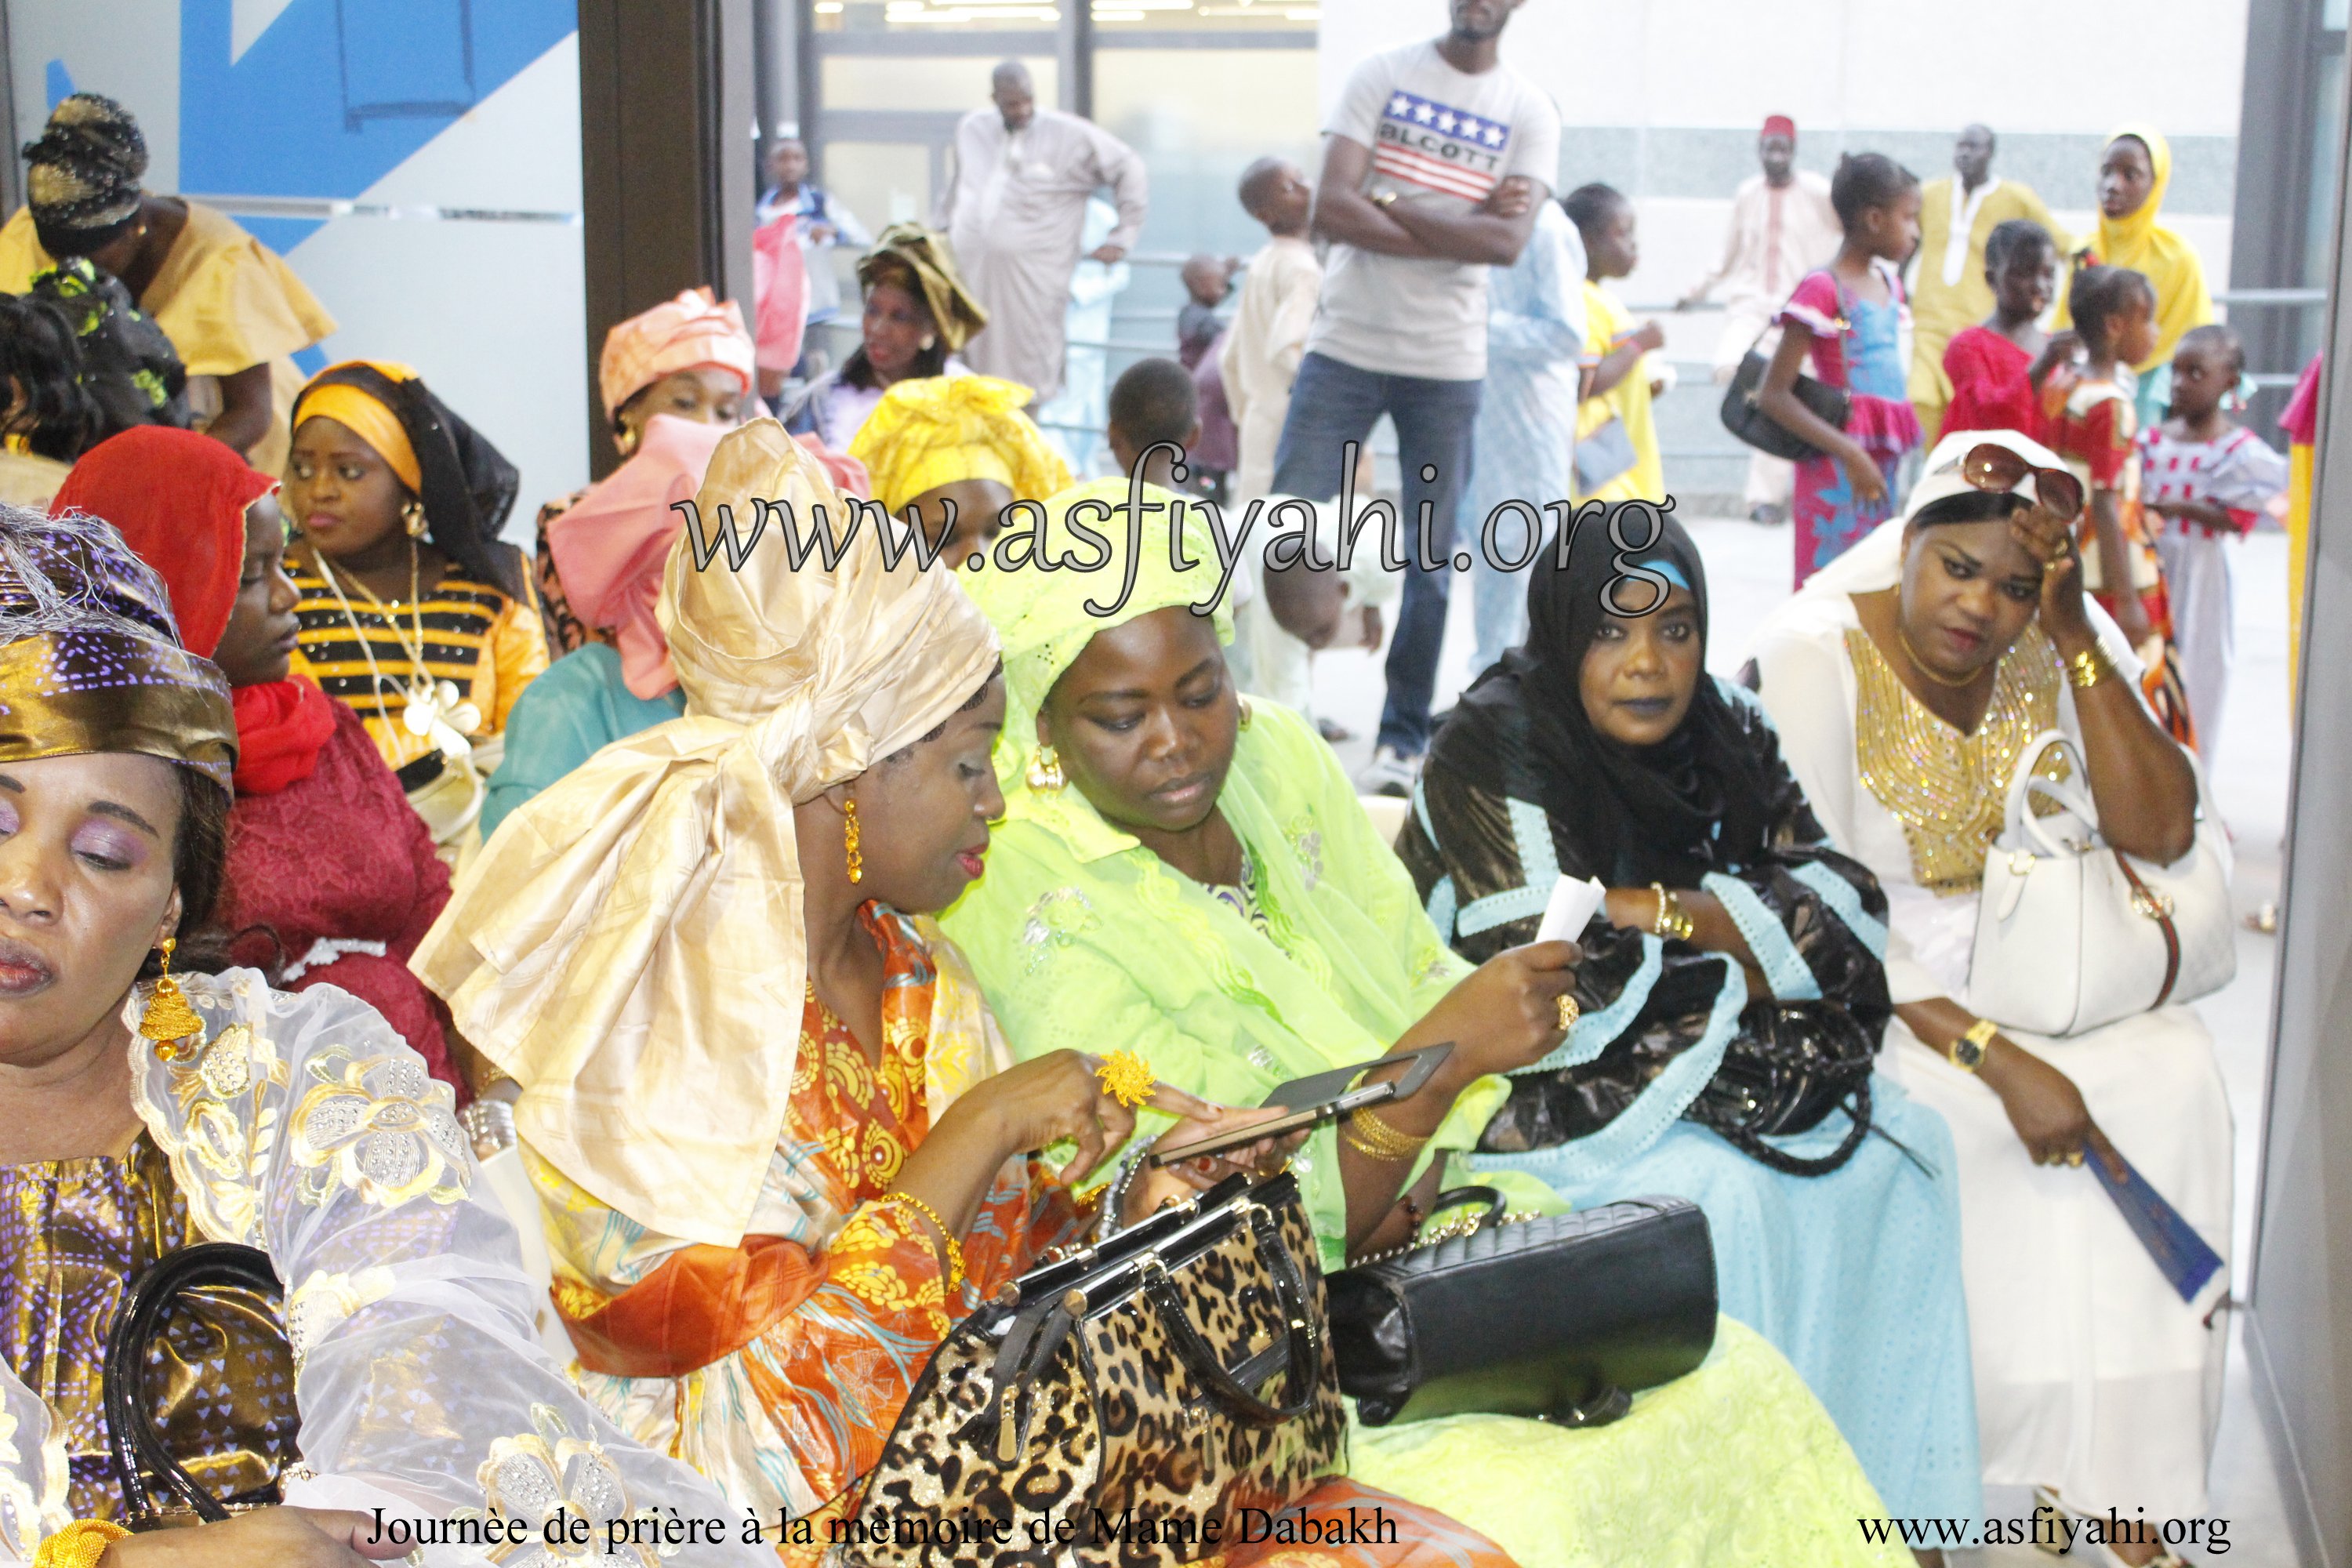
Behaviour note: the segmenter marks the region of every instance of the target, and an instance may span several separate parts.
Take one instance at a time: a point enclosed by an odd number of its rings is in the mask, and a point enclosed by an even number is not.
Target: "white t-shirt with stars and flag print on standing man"
[[[1435,42],[1374,54],[1348,78],[1327,136],[1371,148],[1364,193],[1470,212],[1524,174],[1559,179],[1559,110],[1508,66],[1470,75]],[[1432,381],[1486,376],[1486,268],[1334,244],[1308,353]]]

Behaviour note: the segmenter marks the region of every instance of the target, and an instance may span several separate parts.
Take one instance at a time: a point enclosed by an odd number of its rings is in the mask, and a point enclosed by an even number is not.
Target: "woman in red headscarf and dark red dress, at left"
[[[449,903],[449,867],[358,710],[289,675],[296,595],[275,491],[221,442],[141,425],[82,454],[49,512],[115,524],[162,574],[188,651],[228,677],[238,799],[214,924],[235,961],[282,990],[341,985],[463,1098],[447,1013],[407,969]]]

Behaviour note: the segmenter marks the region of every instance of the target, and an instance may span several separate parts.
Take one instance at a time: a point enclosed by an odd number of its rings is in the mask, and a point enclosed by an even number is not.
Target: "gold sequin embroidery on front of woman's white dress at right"
[[[2018,637],[1992,677],[1983,722],[1966,736],[1912,696],[1870,632],[1849,628],[1846,656],[1856,762],[1870,792],[1903,823],[1912,877],[1938,898],[1978,891],[2018,755],[2058,724],[2058,651],[2039,630]],[[2051,752],[2042,771],[2065,778],[2063,752]]]

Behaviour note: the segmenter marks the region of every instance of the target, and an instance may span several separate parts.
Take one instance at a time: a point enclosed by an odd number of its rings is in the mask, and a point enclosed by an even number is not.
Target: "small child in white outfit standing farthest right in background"
[[[2284,510],[2286,458],[2230,416],[2246,348],[2230,327],[2192,327],[2173,350],[2173,402],[2140,433],[2140,503],[2161,522],[2180,684],[2206,755],[2220,745],[2237,658],[2237,543]]]

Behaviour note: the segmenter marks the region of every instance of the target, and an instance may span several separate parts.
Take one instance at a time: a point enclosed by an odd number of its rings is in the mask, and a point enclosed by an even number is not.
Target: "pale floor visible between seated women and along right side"
[[[1788,597],[1790,531],[1759,529],[1731,520],[1684,520],[1708,559],[1712,599],[1710,665],[1731,672],[1748,658],[1748,642],[1762,618]],[[2239,557],[2239,661],[2232,679],[2227,733],[2213,750],[2211,780],[2223,816],[2234,832],[2237,905],[2251,910],[2279,889],[2279,839],[2286,825],[2288,724],[2286,724],[2286,541],[2258,534]],[[1456,592],[1446,621],[1446,649],[1437,679],[1444,710],[1472,675],[1470,595]],[[1319,710],[1355,731],[1343,743],[1348,766],[1371,755],[1381,717],[1381,665],[1376,654],[1324,654],[1315,663]],[[2230,1107],[2237,1117],[2237,1225],[2232,1258],[2249,1255],[2256,1175],[2260,1171],[2263,1088],[2270,1044],[2270,980],[2277,943],[2239,936],[2237,980],[2199,1004],[2213,1030]],[[2286,1533],[2263,1427],[2249,1394],[2244,1356],[2232,1335],[2230,1378],[2220,1436],[2213,1455],[2211,1509],[2230,1521],[2234,1568],[2300,1568]],[[2006,1512],[1999,1500],[1992,1512]],[[2023,1512],[2023,1509],[2018,1509]],[[2084,1563],[2100,1554],[2077,1549],[2049,1559],[2030,1547],[1964,1554],[1969,1568],[2049,1568],[2053,1561]]]

